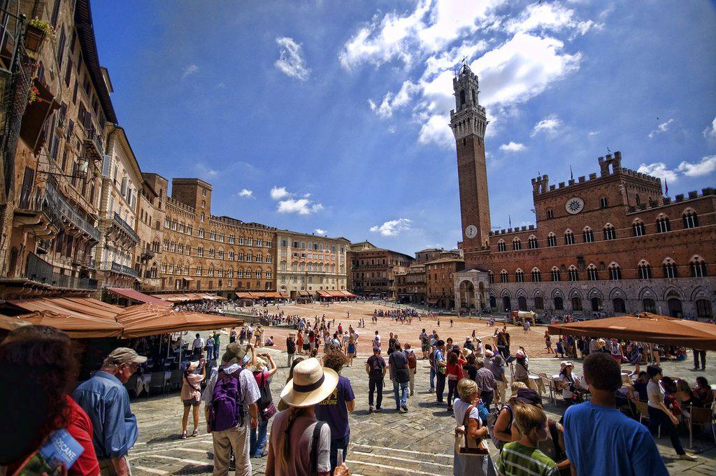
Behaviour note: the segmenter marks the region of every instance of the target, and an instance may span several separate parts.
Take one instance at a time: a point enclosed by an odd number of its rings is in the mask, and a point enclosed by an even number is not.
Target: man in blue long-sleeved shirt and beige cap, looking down
[[[118,347],[91,379],[79,384],[72,398],[92,420],[92,443],[102,476],[131,475],[127,452],[137,441],[137,419],[124,384],[147,361],[132,349]]]

